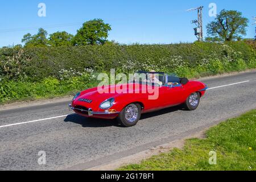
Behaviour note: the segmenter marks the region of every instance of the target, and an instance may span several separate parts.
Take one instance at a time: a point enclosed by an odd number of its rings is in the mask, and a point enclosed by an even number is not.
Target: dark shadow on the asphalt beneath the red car
[[[184,110],[184,108],[182,106],[174,106],[174,107],[169,107],[159,111],[154,111],[152,113],[145,113],[141,115],[141,120],[151,118],[151,117],[156,117],[158,115],[172,113],[177,110]],[[110,126],[122,127],[121,125],[118,124],[116,119],[86,118],[78,114],[70,114],[64,119],[64,121],[77,123],[82,127],[110,127]]]

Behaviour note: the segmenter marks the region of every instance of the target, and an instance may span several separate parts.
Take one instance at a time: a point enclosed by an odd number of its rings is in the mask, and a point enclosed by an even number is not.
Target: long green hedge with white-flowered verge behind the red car
[[[81,89],[79,85],[88,88],[93,72],[112,68],[198,77],[256,68],[256,51],[246,42],[1,48],[0,102],[59,96]],[[47,80],[55,86],[47,86]]]

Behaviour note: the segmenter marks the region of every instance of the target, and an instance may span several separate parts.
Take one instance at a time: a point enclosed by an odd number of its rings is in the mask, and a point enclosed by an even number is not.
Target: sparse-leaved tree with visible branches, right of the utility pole
[[[242,35],[246,35],[246,27],[249,20],[242,17],[239,11],[221,10],[213,22],[207,25],[209,39],[222,41],[240,40]]]

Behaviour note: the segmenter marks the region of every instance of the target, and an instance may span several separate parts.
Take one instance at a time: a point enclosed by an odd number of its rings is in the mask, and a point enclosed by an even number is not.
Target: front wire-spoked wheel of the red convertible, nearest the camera
[[[118,115],[118,122],[125,126],[135,126],[139,119],[141,118],[141,105],[130,104],[127,105],[121,113]]]

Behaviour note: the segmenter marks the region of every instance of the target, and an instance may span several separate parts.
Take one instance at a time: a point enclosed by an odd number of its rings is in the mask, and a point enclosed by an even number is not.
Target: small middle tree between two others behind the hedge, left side
[[[53,47],[71,46],[73,35],[68,32],[55,32],[49,35],[49,45]]]

